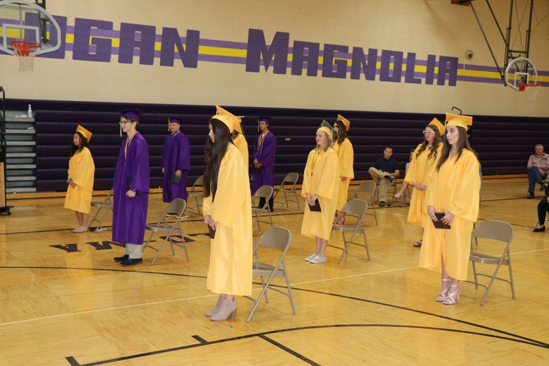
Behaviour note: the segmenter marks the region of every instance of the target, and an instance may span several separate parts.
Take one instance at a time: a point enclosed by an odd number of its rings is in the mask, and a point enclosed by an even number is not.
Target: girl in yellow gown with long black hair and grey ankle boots
[[[235,119],[214,115],[209,123],[213,144],[204,176],[204,221],[215,230],[211,239],[206,288],[221,294],[212,321],[224,321],[236,314],[235,295],[252,293],[252,203],[248,169],[233,144]]]

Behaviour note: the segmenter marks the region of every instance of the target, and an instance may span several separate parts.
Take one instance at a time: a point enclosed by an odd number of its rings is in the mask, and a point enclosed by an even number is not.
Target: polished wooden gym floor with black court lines
[[[412,243],[421,230],[406,222],[406,207],[376,209],[377,226],[366,216],[370,261],[351,246],[338,264],[342,252],[330,247],[328,262],[309,264],[314,242],[299,234],[302,214],[275,204],[274,225],[292,231],[286,263],[296,315],[287,297],[271,293],[250,323],[253,303],[242,297],[235,320],[203,315],[217,295],[205,289],[209,239],[200,217],[183,223],[190,262],[183,249],[172,256],[165,247],[154,266],[147,249],[142,265],[126,268],[113,262],[124,250],[109,244],[110,215],[107,231],[73,234],[64,198],[12,198],[12,215],[0,216],[0,365],[546,365],[549,232],[532,231],[542,192],[526,200],[526,185],[482,181],[479,222],[515,230],[516,299],[496,282],[480,306],[484,290],[462,283],[458,304],[436,302],[439,274],[417,266]],[[148,222],[164,207],[152,194]],[[341,244],[340,235],[330,243]]]

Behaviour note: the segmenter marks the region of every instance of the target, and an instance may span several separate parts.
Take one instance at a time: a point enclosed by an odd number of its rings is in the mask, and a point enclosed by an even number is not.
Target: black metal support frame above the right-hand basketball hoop
[[[514,0],[510,0],[509,1],[509,26],[507,27],[507,30],[506,30],[506,35],[504,36],[503,32],[502,32],[502,29],[500,27],[500,23],[498,23],[498,19],[496,19],[495,17],[495,14],[493,13],[493,10],[492,10],[492,7],[490,5],[490,2],[489,0],[485,0],[487,5],[488,5],[488,8],[492,14],[492,17],[493,17],[493,20],[495,21],[495,25],[498,27],[498,30],[500,31],[500,34],[503,38],[503,41],[505,43],[505,58],[504,58],[504,69],[507,68],[507,66],[509,65],[509,63],[519,57],[519,56],[522,56],[526,59],[528,59],[529,57],[529,54],[530,54],[530,34],[532,32],[532,16],[533,16],[533,10],[534,10],[534,0],[530,0],[530,16],[528,18],[528,30],[526,30],[526,40],[525,40],[525,43],[524,43],[524,49],[511,49],[511,30],[512,30],[512,25],[513,25],[513,5],[514,5]],[[460,4],[464,4],[464,3],[468,3],[470,6],[471,6],[471,10],[473,10],[473,14],[475,15],[475,18],[476,18],[476,21],[478,23],[478,26],[480,27],[480,32],[482,32],[482,36],[484,36],[484,41],[486,41],[486,44],[488,45],[488,49],[490,51],[490,54],[492,55],[492,58],[495,62],[495,66],[498,68],[498,72],[500,73],[500,76],[502,78],[502,80],[505,82],[505,76],[504,76],[504,73],[502,72],[502,69],[500,68],[500,65],[498,64],[498,60],[495,58],[495,55],[493,54],[493,50],[490,46],[490,42],[486,36],[486,34],[484,33],[484,29],[482,28],[482,24],[480,23],[480,19],[478,18],[478,14],[475,10],[475,7],[473,5],[474,1],[473,0],[460,0]],[[528,66],[526,66],[528,67]],[[528,71],[528,69],[526,69],[525,71]]]

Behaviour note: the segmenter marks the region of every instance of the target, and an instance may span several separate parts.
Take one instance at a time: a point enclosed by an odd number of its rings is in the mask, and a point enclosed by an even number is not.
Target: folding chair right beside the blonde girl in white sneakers
[[[340,213],[338,214],[338,218],[336,219],[336,222],[341,222],[341,216],[345,215],[345,222],[347,223],[347,225],[334,224],[331,226],[331,231],[339,231],[343,236],[344,248],[334,247],[334,245],[330,245],[330,247],[343,249],[343,253],[341,253],[341,257],[339,258],[338,263],[341,263],[343,256],[349,252],[349,246],[351,244],[364,247],[366,249],[366,256],[368,257],[368,260],[370,260],[370,251],[368,249],[368,241],[366,240],[366,231],[364,231],[364,216],[366,216],[367,210],[368,203],[366,203],[366,201],[358,199],[349,200],[347,201],[347,203],[345,203]],[[350,222],[354,223],[349,225]],[[345,233],[351,233],[351,238],[349,238],[349,240],[345,238]],[[353,242],[355,236],[360,236],[361,233],[364,237],[364,244]]]

